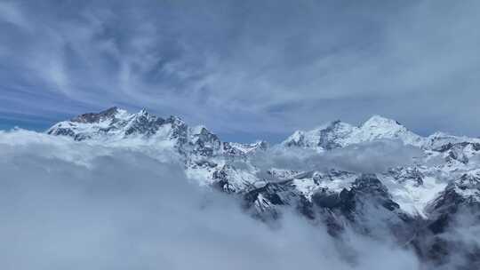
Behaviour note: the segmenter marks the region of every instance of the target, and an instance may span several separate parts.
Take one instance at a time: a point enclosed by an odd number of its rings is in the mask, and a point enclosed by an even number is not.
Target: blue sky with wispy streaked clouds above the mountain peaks
[[[0,129],[147,107],[277,141],[370,115],[478,136],[477,1],[1,1]]]

